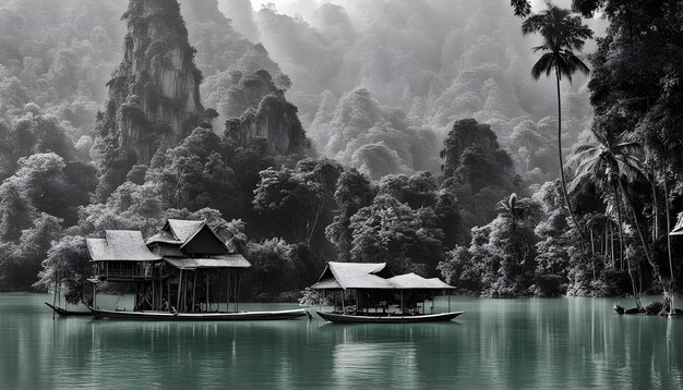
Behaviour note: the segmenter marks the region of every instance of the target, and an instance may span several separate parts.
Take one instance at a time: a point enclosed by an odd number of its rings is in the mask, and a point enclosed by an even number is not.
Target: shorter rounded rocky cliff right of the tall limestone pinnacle
[[[305,132],[297,107],[285,99],[266,71],[235,74],[236,85],[228,90],[227,135],[241,145],[265,138],[273,155],[303,155],[308,150]]]

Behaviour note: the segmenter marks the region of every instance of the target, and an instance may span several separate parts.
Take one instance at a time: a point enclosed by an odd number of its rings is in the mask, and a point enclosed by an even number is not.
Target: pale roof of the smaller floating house
[[[422,278],[415,273],[394,276],[386,263],[328,261],[313,290],[452,290],[454,287],[439,278]]]

